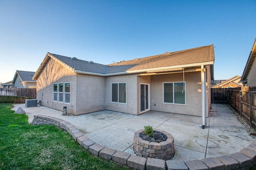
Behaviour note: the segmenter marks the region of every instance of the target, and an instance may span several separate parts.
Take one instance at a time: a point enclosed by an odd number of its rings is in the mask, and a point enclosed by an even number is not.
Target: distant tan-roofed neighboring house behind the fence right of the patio
[[[241,76],[234,76],[228,80],[216,80],[216,85],[212,86],[213,88],[233,88],[233,87],[240,87],[243,86],[240,83]],[[220,82],[220,83],[218,83]]]

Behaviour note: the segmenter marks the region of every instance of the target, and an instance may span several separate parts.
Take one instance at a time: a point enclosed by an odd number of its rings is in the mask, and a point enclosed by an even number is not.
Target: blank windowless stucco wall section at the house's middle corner
[[[105,77],[77,74],[76,115],[105,110]]]

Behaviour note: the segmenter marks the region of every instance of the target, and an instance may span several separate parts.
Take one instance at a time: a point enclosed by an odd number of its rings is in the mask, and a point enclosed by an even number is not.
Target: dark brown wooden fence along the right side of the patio
[[[211,89],[212,103],[227,103],[256,130],[256,87]]]

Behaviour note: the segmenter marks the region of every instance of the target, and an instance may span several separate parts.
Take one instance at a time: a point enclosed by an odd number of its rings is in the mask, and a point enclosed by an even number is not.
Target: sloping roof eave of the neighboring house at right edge
[[[252,63],[255,59],[255,55],[256,55],[256,38],[254,39],[254,43],[252,44],[252,49],[250,51],[249,57],[247,59],[246,65],[244,67],[244,71],[243,71],[242,78],[241,78],[242,83],[247,82],[247,76],[250,72]]]

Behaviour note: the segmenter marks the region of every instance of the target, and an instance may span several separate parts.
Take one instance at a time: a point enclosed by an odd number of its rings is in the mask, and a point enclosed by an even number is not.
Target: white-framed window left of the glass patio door
[[[111,83],[111,102],[126,103],[126,83]]]

